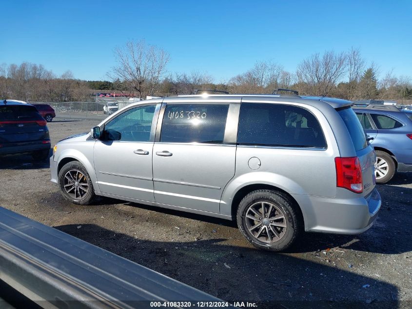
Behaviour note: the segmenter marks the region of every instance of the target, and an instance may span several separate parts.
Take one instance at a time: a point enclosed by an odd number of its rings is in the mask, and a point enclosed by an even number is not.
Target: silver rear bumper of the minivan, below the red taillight
[[[372,227],[382,204],[376,188],[367,198],[297,194],[293,197],[302,209],[305,230],[308,232],[360,234]]]

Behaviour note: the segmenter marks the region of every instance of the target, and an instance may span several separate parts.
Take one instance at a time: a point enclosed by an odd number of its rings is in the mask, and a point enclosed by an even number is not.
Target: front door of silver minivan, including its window
[[[134,107],[104,126],[93,156],[101,192],[154,201],[152,150],[156,124],[151,132],[155,109],[156,105]],[[110,136],[117,132],[120,140],[112,141]]]

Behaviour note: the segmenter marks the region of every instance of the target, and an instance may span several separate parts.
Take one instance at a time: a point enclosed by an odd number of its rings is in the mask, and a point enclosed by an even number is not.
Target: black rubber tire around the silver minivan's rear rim
[[[278,208],[278,209],[275,209],[276,211],[275,213],[281,212],[281,214],[279,213],[278,216],[279,217],[281,217],[282,215],[284,216],[284,219],[280,219],[280,220],[283,220],[282,223],[283,224],[286,223],[286,227],[284,227],[285,231],[283,231],[283,229],[280,227],[277,229],[277,231],[281,230],[282,232],[280,234],[283,233],[283,235],[281,235],[281,237],[278,240],[275,240],[273,242],[265,242],[265,241],[262,241],[261,239],[259,240],[258,238],[255,237],[256,235],[254,233],[256,232],[254,230],[251,232],[248,228],[248,224],[250,222],[254,222],[254,224],[256,223],[255,226],[260,224],[258,222],[259,218],[256,217],[256,221],[254,221],[254,220],[251,220],[250,217],[246,217],[246,215],[247,215],[247,212],[250,211],[250,207],[257,205],[259,203],[261,204],[262,202],[268,203],[268,204],[264,204],[267,206],[264,206],[265,210],[263,211],[268,210],[270,212],[268,208],[270,207],[270,205],[273,205],[274,206],[273,208],[275,207]],[[270,213],[274,213],[273,211],[274,210],[272,210],[272,212]],[[260,211],[260,213],[261,212],[262,211]],[[270,213],[269,213],[269,217],[270,217]],[[301,224],[303,224],[303,222],[301,222],[300,217],[295,209],[294,203],[290,200],[290,198],[281,192],[272,191],[272,190],[256,190],[246,195],[243,198],[243,200],[240,202],[239,207],[237,208],[236,219],[237,219],[237,226],[239,227],[240,232],[248,240],[249,243],[251,243],[253,246],[255,246],[258,249],[264,249],[264,250],[269,250],[269,251],[282,251],[290,247],[294,243],[296,238],[298,237],[298,234],[301,229],[300,226]],[[280,221],[278,222],[280,223]],[[268,223],[268,224],[270,226],[267,228],[264,227],[263,224],[260,225],[260,227],[266,228],[266,231],[263,231],[263,233],[269,232],[271,235],[275,235],[274,232],[269,231],[269,228],[271,228],[272,223]],[[259,230],[260,227],[256,229]],[[277,227],[275,227],[274,229],[276,228]],[[270,239],[271,237],[267,237],[267,238]]]

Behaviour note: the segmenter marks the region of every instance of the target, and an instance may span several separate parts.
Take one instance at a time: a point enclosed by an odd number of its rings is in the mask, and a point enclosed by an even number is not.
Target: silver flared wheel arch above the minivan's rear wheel
[[[247,185],[272,185],[289,194],[308,194],[293,180],[270,172],[250,172],[234,177],[225,187],[220,203],[220,213],[232,215],[232,201],[235,194]]]

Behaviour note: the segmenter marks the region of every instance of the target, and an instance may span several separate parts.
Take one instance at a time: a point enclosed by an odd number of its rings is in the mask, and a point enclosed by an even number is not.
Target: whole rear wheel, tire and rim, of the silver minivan
[[[237,209],[237,226],[253,246],[270,251],[290,247],[301,222],[293,202],[285,194],[256,190],[246,195]]]

